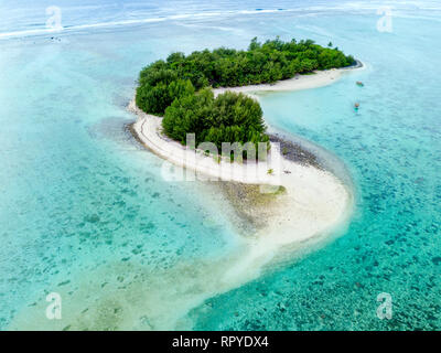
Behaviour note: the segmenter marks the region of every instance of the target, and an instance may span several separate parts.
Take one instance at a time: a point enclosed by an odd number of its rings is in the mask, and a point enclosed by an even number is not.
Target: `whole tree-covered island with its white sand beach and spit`
[[[218,181],[213,188],[246,224],[238,228],[248,250],[222,279],[228,288],[281,247],[320,243],[353,205],[351,188],[314,153],[268,132],[255,93],[315,88],[362,66],[331,45],[254,39],[247,51],[173,53],[141,71],[128,107],[138,116],[132,135],[164,159],[163,178]]]

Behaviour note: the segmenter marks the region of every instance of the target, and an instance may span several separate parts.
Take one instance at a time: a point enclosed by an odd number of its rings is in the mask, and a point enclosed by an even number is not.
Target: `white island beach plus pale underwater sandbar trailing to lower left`
[[[250,94],[313,88],[334,82],[341,74],[332,71],[270,87],[228,89]],[[273,146],[269,164],[260,170],[234,163],[223,171],[224,164],[213,157],[195,157],[194,151],[164,137],[161,118],[146,115],[133,103],[130,109],[138,116],[132,127],[137,139],[164,160],[164,171],[169,172],[164,176],[170,176],[171,165],[180,165],[178,171],[190,172],[195,179],[218,180],[206,182],[212,184],[208,193],[201,192],[228,214],[229,205],[248,226],[238,232],[235,249],[217,258],[190,258],[164,269],[130,261],[98,265],[68,284],[54,285],[63,297],[62,320],[45,318],[47,302],[42,293],[14,318],[9,329],[191,330],[187,313],[192,309],[203,306],[211,310],[209,303],[204,304],[207,299],[257,278],[269,265],[323,244],[351,215],[351,190],[315,163],[289,160]],[[267,173],[268,168],[273,168],[272,174]]]

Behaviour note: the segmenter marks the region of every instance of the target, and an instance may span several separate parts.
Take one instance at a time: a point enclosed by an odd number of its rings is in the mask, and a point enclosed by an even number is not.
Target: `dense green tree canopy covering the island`
[[[186,133],[195,133],[197,143],[211,141],[219,148],[222,142],[268,141],[257,101],[233,93],[214,98],[209,87],[275,83],[355,63],[331,46],[310,40],[259,43],[254,39],[247,51],[173,53],[141,71],[136,103],[146,113],[164,116],[164,132],[178,141],[184,142]]]

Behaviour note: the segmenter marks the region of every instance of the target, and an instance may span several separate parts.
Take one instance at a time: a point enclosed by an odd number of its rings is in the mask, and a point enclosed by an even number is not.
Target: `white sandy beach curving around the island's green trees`
[[[352,69],[330,69],[275,85],[216,88],[213,92],[215,95],[226,90],[240,92],[256,98],[256,92],[298,90],[330,85]],[[186,175],[190,172],[194,178],[192,180],[220,181],[217,183],[222,185],[219,190],[238,216],[252,224],[254,234],[243,235],[246,244],[244,256],[223,278],[230,284],[228,287],[234,288],[258,277],[266,265],[287,249],[292,253],[292,249],[321,244],[347,224],[353,208],[352,190],[320,165],[312,152],[300,146],[272,136],[266,162],[217,162],[213,157],[196,153],[163,136],[162,118],[143,113],[136,106],[135,99],[128,109],[137,115],[137,121],[130,130],[138,141],[169,162],[168,168],[182,167],[181,172]],[[288,146],[289,152],[282,153],[275,142]],[[289,156],[286,158],[283,154]],[[271,174],[268,173],[269,169],[272,170]]]

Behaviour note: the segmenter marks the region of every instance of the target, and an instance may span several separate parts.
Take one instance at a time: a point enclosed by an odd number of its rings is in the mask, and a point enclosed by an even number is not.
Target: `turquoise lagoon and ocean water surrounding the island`
[[[271,127],[344,162],[356,205],[331,242],[228,287],[233,210],[164,181],[126,106],[154,60],[276,35],[366,65],[261,98]],[[2,0],[0,329],[440,330],[440,42],[439,1]]]

